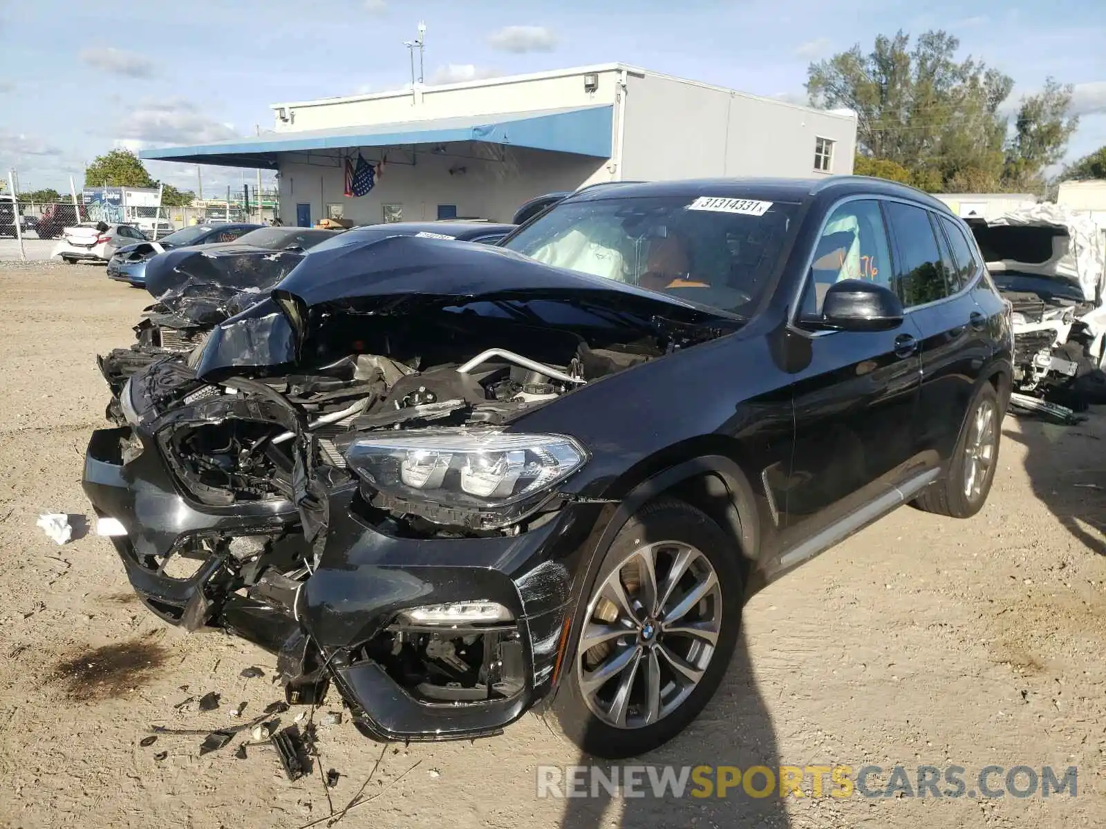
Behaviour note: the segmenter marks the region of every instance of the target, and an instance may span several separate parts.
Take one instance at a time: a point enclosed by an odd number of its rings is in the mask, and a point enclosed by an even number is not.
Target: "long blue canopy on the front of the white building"
[[[282,153],[359,147],[410,147],[477,141],[592,158],[609,158],[614,107],[609,104],[501,115],[368,124],[330,129],[270,133],[190,147],[144,149],[140,158],[276,169]]]

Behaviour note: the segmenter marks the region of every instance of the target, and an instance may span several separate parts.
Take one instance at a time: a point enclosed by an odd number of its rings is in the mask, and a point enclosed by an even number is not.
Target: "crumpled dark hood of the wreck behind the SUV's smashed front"
[[[213,325],[263,300],[303,258],[232,242],[179,248],[147,263],[146,290],[175,316]]]

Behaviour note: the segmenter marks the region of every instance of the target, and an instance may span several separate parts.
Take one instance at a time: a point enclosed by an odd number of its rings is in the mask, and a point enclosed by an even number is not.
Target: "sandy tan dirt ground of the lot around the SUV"
[[[492,739],[408,747],[372,743],[347,721],[321,725],[319,766],[341,774],[327,791],[317,770],[289,783],[272,752],[236,758],[241,737],[204,756],[202,736],[139,745],[152,724],[206,732],[258,714],[280,699],[274,661],[164,626],[132,597],[106,539],[56,546],[35,526],[40,513],[91,515],[82,460],[107,401],[94,355],[128,343],[148,295],[102,267],[38,263],[0,265],[0,297],[4,827],[294,828],[326,818],[328,800],[342,808],[371,773],[375,799],[338,826],[1106,825],[1100,414],[1076,427],[1008,418],[979,516],[900,510],[757,596],[716,700],[639,760],[959,765],[966,777],[1077,766],[1076,797],[538,798],[539,765],[581,760],[531,715]],[[241,679],[250,665],[265,676]],[[217,711],[175,707],[209,691]]]

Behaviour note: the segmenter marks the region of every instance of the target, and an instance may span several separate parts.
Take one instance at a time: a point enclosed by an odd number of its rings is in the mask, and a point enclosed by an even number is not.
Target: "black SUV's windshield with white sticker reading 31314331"
[[[713,197],[565,202],[502,246],[741,314],[760,302],[796,207]]]

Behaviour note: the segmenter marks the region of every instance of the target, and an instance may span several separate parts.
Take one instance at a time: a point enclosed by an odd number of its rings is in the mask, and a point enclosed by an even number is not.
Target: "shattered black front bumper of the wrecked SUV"
[[[161,619],[188,629],[226,628],[276,653],[290,688],[305,678],[333,682],[358,728],[374,738],[495,734],[553,690],[575,607],[573,574],[599,529],[597,506],[567,506],[517,536],[409,538],[374,526],[358,512],[356,485],[347,485],[330,495],[317,566],[280,607],[241,591],[225,594],[220,554],[182,580],[166,576],[159,562],[197,535],[227,538],[293,526],[294,507],[281,502],[201,508],[176,490],[152,440],[123,463],[121,441],[129,436],[129,428],[93,433],[83,486],[97,517],[116,518],[126,528],[113,542],[135,591]],[[403,621],[411,608],[474,601],[498,602],[512,619],[440,631]],[[487,691],[427,699],[395,665],[366,657],[382,638],[413,632],[479,637]]]

